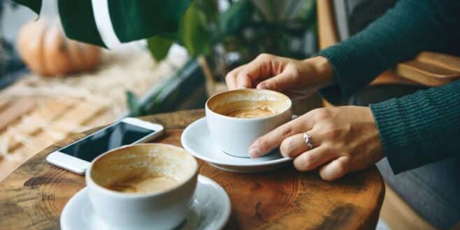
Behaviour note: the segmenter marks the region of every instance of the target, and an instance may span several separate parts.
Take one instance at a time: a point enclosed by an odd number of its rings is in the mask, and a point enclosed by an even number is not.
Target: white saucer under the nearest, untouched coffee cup
[[[175,230],[222,229],[230,217],[230,199],[220,185],[203,175],[198,176],[194,203],[187,220]],[[87,188],[83,188],[66,203],[61,215],[63,230],[106,230],[110,227],[101,222],[89,202]]]

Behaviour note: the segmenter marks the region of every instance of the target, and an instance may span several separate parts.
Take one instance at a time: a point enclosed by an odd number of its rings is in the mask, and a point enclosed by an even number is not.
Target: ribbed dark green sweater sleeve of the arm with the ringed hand
[[[460,154],[460,80],[371,110],[394,173]]]

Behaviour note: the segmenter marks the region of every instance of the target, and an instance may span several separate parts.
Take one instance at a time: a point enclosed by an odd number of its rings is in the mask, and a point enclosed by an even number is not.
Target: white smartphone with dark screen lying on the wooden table
[[[108,127],[48,154],[48,163],[77,174],[85,174],[91,161],[100,154],[122,145],[132,145],[157,138],[164,131],[161,124],[127,117]]]

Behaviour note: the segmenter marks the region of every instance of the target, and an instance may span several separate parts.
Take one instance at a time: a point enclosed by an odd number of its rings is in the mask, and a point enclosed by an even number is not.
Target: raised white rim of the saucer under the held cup
[[[245,164],[231,164],[231,163],[224,162],[224,161],[218,161],[218,160],[215,160],[215,159],[212,159],[212,158],[209,158],[209,157],[204,157],[199,152],[195,152],[194,150],[192,150],[192,148],[190,148],[190,146],[187,144],[187,141],[185,141],[185,136],[190,135],[189,132],[190,132],[190,129],[192,129],[191,127],[199,125],[199,122],[203,122],[203,124],[205,124],[206,126],[208,125],[207,122],[206,122],[206,117],[201,117],[199,120],[196,120],[192,124],[189,124],[189,126],[187,126],[187,128],[185,128],[185,130],[182,132],[182,136],[180,136],[180,142],[182,143],[182,146],[185,148],[185,150],[187,152],[189,152],[190,154],[194,155],[194,157],[196,157],[196,158],[202,159],[203,161],[208,161],[208,162],[213,163],[213,164],[220,164],[220,165],[224,165],[224,166],[267,166],[267,165],[271,165],[271,164],[278,164],[278,163],[282,163],[282,162],[292,160],[292,158],[289,158],[289,157],[282,157],[280,159],[272,159],[272,160],[263,161],[263,162],[254,162],[254,163],[245,163]],[[206,129],[208,129],[208,127],[206,127]],[[213,143],[210,143],[210,145],[213,145]],[[220,151],[222,152],[222,154],[227,154],[222,150],[220,150]],[[243,158],[243,157],[236,157],[236,158]]]

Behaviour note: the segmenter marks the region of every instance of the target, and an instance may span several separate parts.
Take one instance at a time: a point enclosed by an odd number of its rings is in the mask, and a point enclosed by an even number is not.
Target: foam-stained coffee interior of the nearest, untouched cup
[[[193,175],[198,165],[182,150],[164,144],[131,145],[94,162],[91,177],[106,189],[155,193],[171,189]]]

